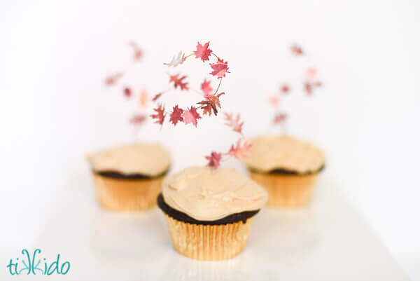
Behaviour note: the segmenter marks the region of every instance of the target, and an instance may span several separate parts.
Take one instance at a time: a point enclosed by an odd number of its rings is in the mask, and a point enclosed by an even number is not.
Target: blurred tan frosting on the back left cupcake
[[[95,172],[119,172],[158,176],[169,169],[169,151],[158,143],[137,143],[117,146],[87,155]]]

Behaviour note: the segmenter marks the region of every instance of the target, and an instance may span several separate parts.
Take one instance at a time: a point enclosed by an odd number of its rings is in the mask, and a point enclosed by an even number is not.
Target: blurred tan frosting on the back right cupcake
[[[288,170],[298,174],[317,172],[325,163],[321,149],[286,135],[263,135],[250,140],[244,163],[259,172]]]

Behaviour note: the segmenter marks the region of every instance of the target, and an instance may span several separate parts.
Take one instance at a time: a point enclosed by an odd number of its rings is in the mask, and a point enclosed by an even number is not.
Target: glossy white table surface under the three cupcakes
[[[91,181],[80,179],[80,185],[62,193],[33,245],[43,256],[60,253],[62,262],[71,262],[69,273],[48,280],[408,280],[370,226],[325,177],[309,207],[266,207],[257,214],[244,252],[226,261],[181,256],[157,207],[141,214],[106,212],[86,182]],[[10,257],[1,260],[6,263]]]

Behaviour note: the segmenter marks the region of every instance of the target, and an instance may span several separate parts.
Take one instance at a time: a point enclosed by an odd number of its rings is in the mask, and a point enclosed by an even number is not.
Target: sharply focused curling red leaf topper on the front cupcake
[[[202,60],[206,63],[209,61],[209,66],[211,72],[209,75],[215,76],[218,79],[218,85],[216,90],[211,86],[211,81],[204,79],[200,84],[202,90],[201,101],[196,104],[192,104],[190,107],[181,108],[179,104],[176,104],[172,111],[165,111],[165,107],[159,103],[158,107],[153,109],[153,114],[151,118],[155,120],[155,123],[163,125],[165,120],[169,118],[169,123],[172,123],[176,126],[178,123],[184,123],[185,125],[191,124],[197,128],[197,125],[200,123],[200,119],[204,118],[205,115],[217,116],[219,110],[221,109],[221,97],[225,95],[225,92],[221,92],[221,83],[226,74],[230,73],[228,62],[218,57],[213,50],[209,48],[210,42],[201,44],[197,43],[196,50],[193,51],[190,55],[185,55],[182,51],[174,55],[170,62],[165,63],[167,67],[177,67],[180,64],[186,62],[189,57],[195,57],[196,59]],[[210,58],[214,58],[214,62],[210,62]],[[188,82],[188,77],[183,74],[169,74],[169,83],[175,89],[179,90],[190,90],[190,85]],[[153,97],[153,102],[158,102],[163,95],[167,94],[169,91],[159,92],[155,97]],[[241,116],[239,114],[228,114],[225,113],[225,125],[230,127],[234,132],[237,132],[240,137],[237,141],[237,144],[232,144],[230,150],[226,153],[221,153],[217,151],[212,151],[209,156],[205,156],[208,160],[210,167],[217,168],[220,166],[221,160],[225,156],[232,156],[235,158],[241,158],[246,156],[246,152],[251,148],[251,145],[248,144],[242,133],[242,125],[244,122],[241,121]]]

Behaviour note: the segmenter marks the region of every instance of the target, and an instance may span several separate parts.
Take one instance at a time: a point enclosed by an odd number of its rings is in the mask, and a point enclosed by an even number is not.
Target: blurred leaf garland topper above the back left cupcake
[[[133,62],[139,62],[143,56],[143,50],[139,48],[136,42],[130,41],[128,45],[133,50]],[[120,79],[123,78],[123,76],[127,73],[126,71],[118,71],[115,72],[105,78],[105,85],[106,86],[114,86],[120,84]],[[120,86],[120,85],[119,85]],[[134,128],[134,137],[137,137],[137,130],[141,125],[144,125],[144,123],[147,121],[148,116],[146,115],[146,108],[149,101],[148,92],[146,89],[141,89],[138,91],[135,91],[132,89],[131,86],[125,85],[120,86],[122,88],[122,94],[123,97],[125,97],[127,100],[137,100],[138,106],[137,106],[137,112],[132,114],[132,116],[129,119],[129,123],[133,125]],[[137,94],[137,95],[136,95]],[[137,97],[136,97],[137,96]]]

